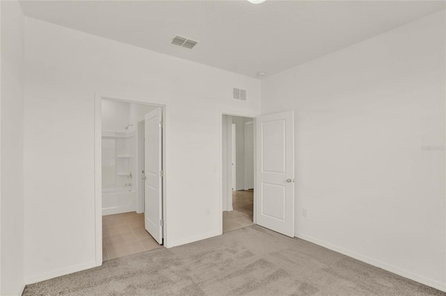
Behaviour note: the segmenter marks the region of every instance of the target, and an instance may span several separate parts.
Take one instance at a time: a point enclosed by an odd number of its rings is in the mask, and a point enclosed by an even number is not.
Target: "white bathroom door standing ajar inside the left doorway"
[[[145,227],[162,244],[162,113],[157,108],[144,124],[144,217]]]

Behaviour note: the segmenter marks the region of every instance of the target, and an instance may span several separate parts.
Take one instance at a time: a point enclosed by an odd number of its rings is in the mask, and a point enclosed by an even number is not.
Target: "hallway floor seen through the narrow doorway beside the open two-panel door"
[[[223,212],[223,232],[253,224],[254,190],[232,192],[233,211]]]

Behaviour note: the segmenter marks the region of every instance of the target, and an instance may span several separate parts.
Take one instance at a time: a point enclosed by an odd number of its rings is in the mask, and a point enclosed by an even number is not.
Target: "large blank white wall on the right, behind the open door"
[[[295,112],[296,236],[446,290],[445,79],[443,10],[262,81]]]

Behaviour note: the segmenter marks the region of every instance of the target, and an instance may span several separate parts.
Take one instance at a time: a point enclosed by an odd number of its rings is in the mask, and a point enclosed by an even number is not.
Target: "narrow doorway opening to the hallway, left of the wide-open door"
[[[254,119],[222,117],[223,232],[254,223]]]

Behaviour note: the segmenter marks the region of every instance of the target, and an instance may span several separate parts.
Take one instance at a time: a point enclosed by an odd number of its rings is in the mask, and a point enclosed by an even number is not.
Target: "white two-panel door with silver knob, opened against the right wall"
[[[256,119],[256,224],[294,237],[293,111]]]

